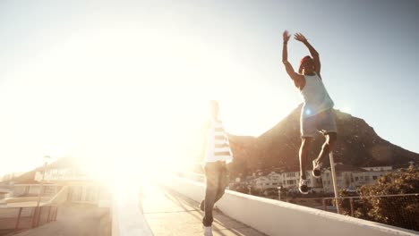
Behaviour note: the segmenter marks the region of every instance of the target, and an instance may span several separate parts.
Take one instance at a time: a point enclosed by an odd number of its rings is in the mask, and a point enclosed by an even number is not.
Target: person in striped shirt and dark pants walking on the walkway
[[[212,235],[212,210],[214,204],[224,195],[228,185],[227,164],[233,161],[233,155],[226,131],[218,119],[218,102],[209,101],[209,121],[205,129],[204,171],[206,179],[205,199],[200,208],[204,211],[202,223],[204,235]]]

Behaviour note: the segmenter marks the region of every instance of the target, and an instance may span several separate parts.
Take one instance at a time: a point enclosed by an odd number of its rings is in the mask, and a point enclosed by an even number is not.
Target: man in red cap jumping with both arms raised
[[[316,131],[320,131],[325,137],[325,142],[321,147],[321,152],[312,161],[312,175],[315,178],[321,177],[321,164],[325,156],[333,150],[337,140],[338,129],[333,112],[333,101],[323,84],[321,77],[321,62],[319,53],[308,42],[307,38],[301,33],[295,34],[295,40],[300,41],[306,46],[310,55],[306,55],[300,62],[298,72],[294,71],[287,58],[287,43],[290,35],[287,31],[283,34],[282,62],[285,65],[286,73],[294,81],[294,85],[300,90],[304,104],[301,110],[300,131],[301,147],[300,156],[300,182],[298,190],[301,193],[308,193],[307,178],[305,174],[308,153],[312,144],[312,139]]]

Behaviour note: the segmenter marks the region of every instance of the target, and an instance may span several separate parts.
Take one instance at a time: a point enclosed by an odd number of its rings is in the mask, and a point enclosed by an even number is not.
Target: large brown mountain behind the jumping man
[[[260,137],[230,135],[235,162],[232,173],[245,173],[258,169],[299,169],[301,105]],[[401,166],[409,161],[419,163],[419,154],[398,147],[380,136],[363,119],[335,110],[338,142],[334,150],[336,163],[355,166]],[[319,133],[312,142],[310,159],[315,158],[324,138]],[[236,145],[234,145],[236,144]],[[309,162],[311,164],[311,162]],[[325,160],[329,166],[329,158]],[[311,166],[310,166],[311,168]]]

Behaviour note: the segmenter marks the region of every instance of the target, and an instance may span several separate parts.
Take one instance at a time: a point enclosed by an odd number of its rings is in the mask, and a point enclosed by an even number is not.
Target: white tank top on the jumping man
[[[304,100],[301,118],[304,119],[333,108],[334,103],[320,76],[314,73],[314,75],[304,75],[304,78],[305,86],[300,91]]]

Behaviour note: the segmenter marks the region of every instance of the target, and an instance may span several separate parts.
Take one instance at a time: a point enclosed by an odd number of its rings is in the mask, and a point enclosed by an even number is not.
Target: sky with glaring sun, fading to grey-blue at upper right
[[[0,175],[54,158],[180,164],[207,101],[259,136],[302,102],[282,32],[321,55],[335,108],[419,153],[419,4],[388,1],[2,1]],[[303,44],[291,40],[294,67]],[[182,159],[182,161],[180,161]]]

